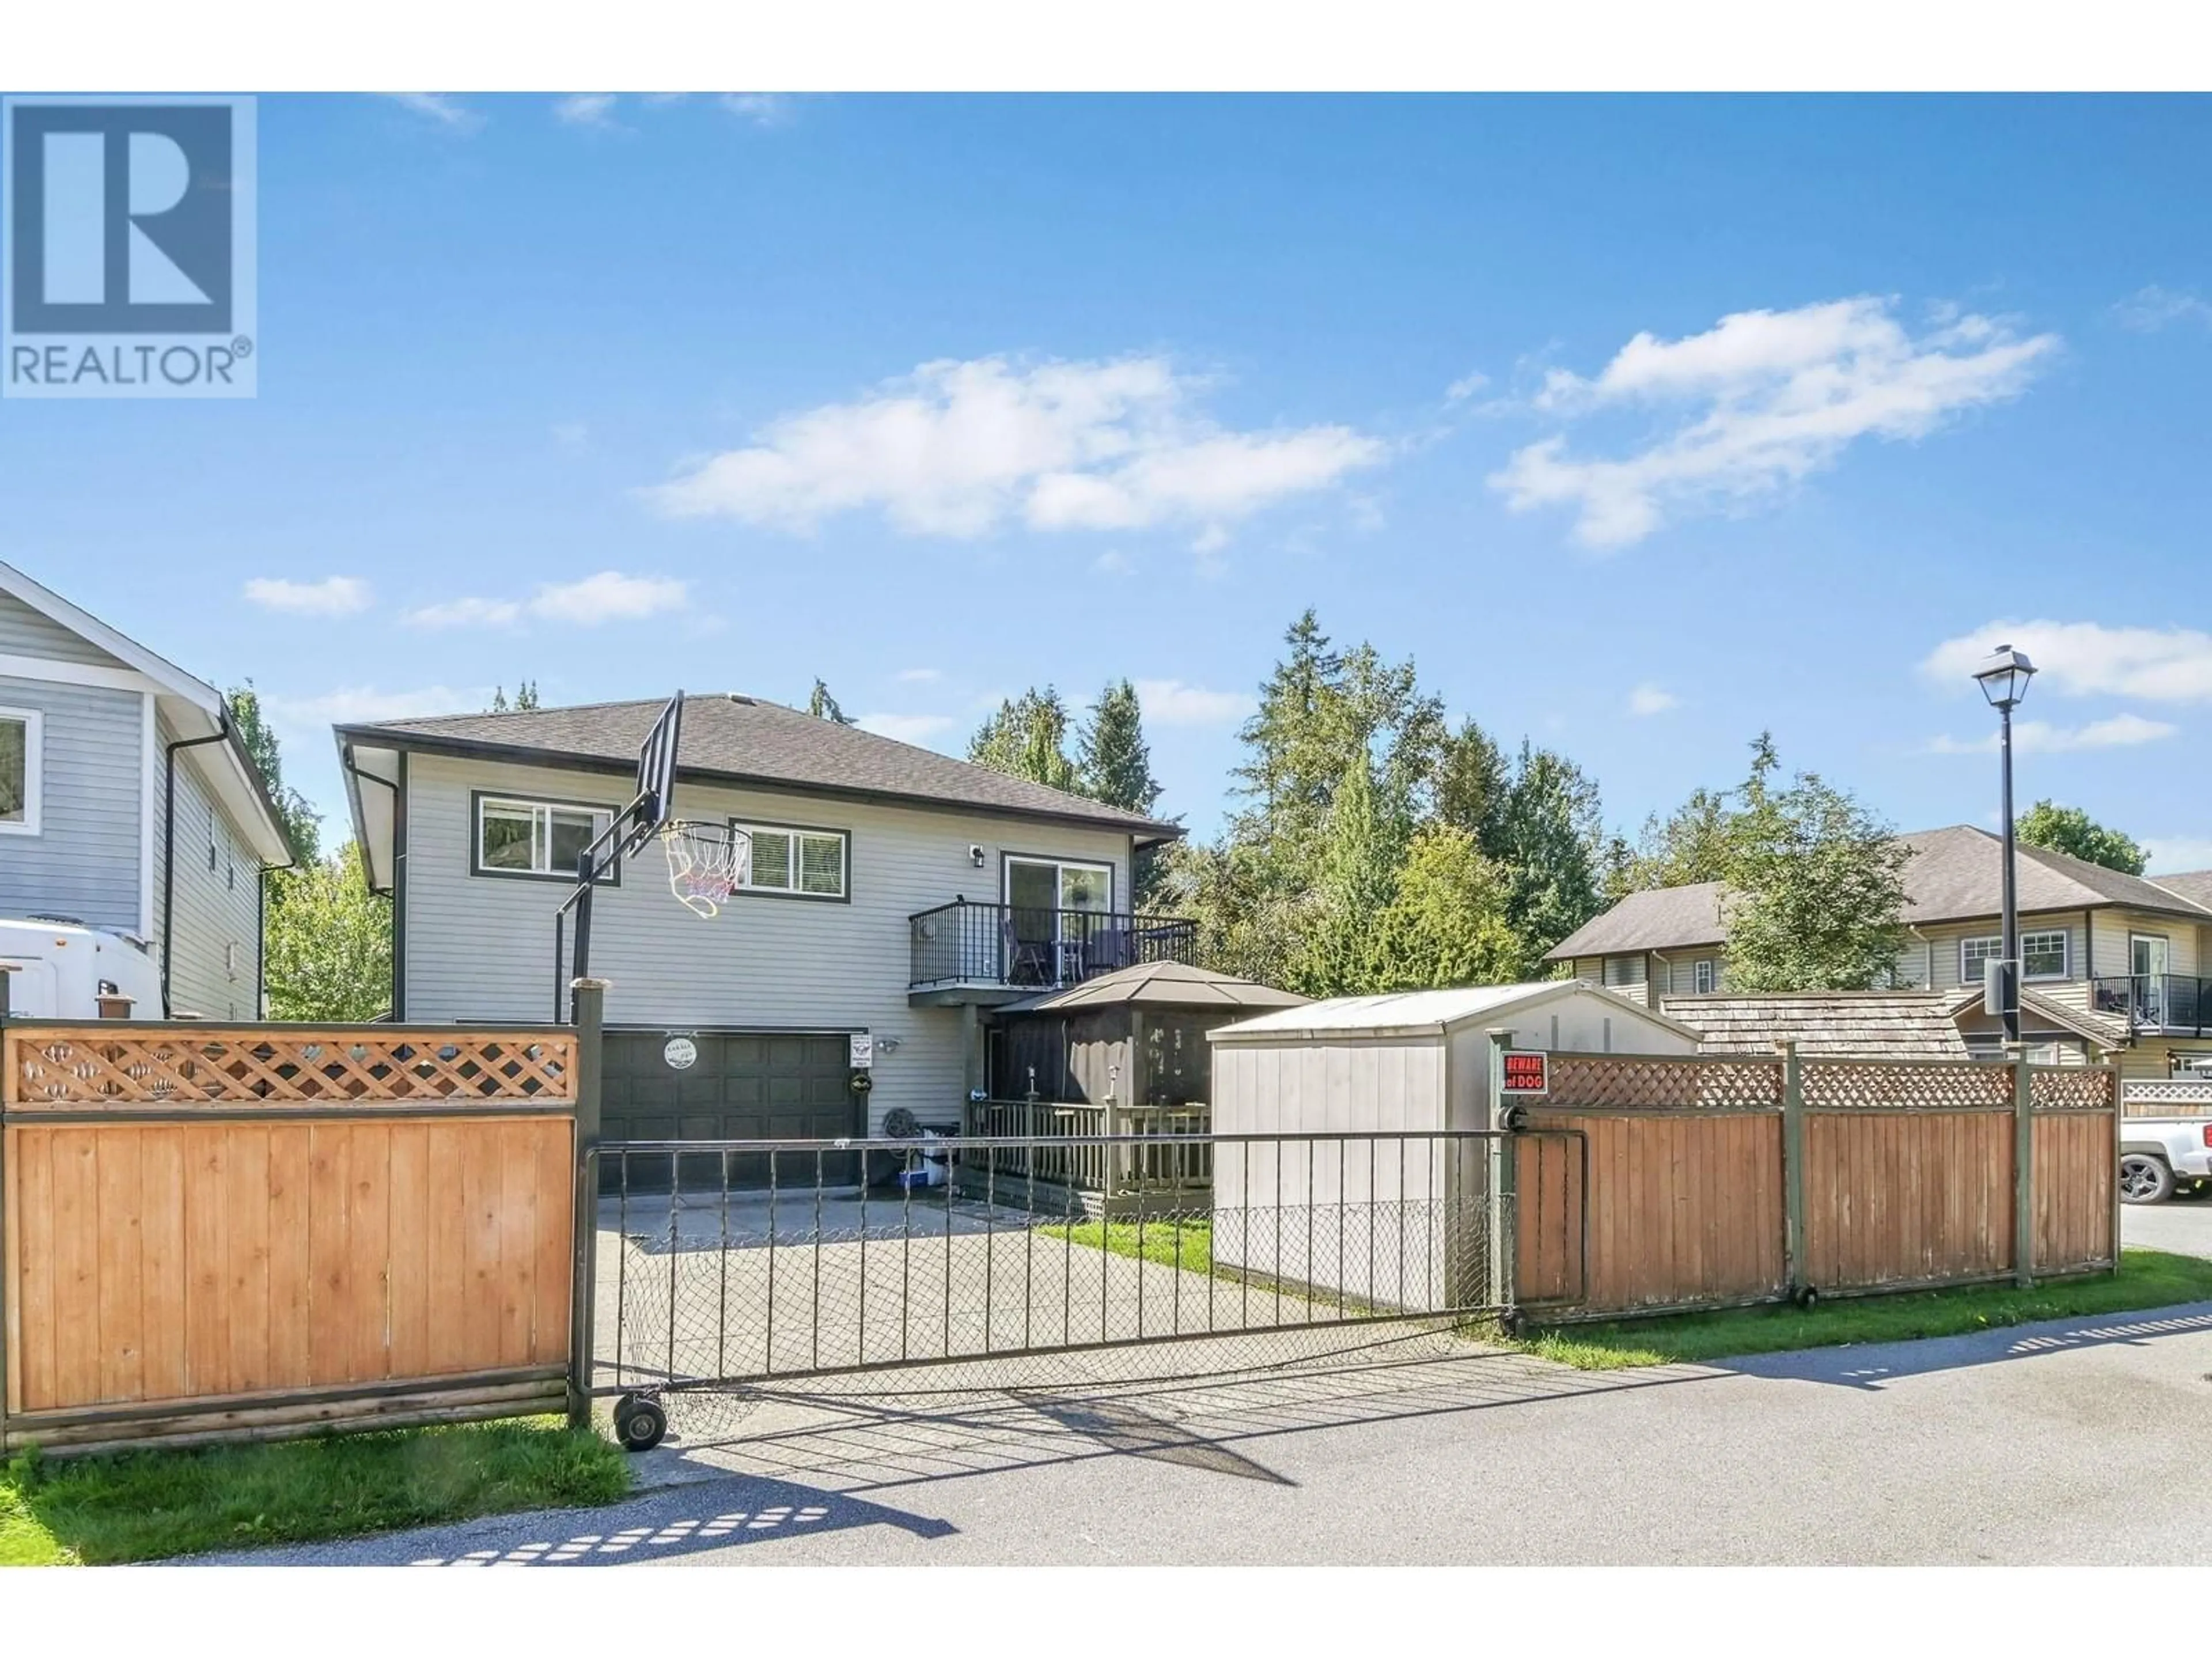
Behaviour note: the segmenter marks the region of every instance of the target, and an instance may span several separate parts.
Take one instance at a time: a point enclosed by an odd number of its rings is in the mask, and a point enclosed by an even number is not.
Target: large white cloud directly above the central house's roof
[[[914,535],[1190,524],[1212,533],[1385,458],[1349,427],[1225,431],[1166,358],[925,363],[854,403],[774,420],[648,500],[787,531],[880,511]]]

